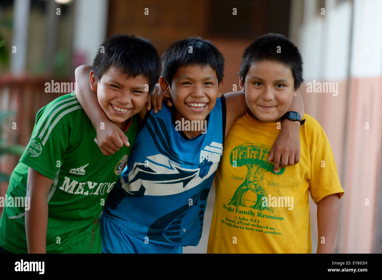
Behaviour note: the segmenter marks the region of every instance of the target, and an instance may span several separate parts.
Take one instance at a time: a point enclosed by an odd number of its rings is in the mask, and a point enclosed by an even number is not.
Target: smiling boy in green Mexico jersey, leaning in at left
[[[138,133],[135,115],[146,104],[158,71],[159,55],[141,37],[111,37],[94,58],[91,89],[131,145]],[[102,252],[99,216],[130,148],[105,156],[94,126],[75,93],[37,112],[31,140],[0,204],[0,253]]]

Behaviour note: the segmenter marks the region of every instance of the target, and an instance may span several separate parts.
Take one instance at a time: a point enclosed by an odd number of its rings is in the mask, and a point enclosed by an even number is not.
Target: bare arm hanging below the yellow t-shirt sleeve
[[[340,215],[338,194],[328,195],[317,203],[317,254],[333,253]]]

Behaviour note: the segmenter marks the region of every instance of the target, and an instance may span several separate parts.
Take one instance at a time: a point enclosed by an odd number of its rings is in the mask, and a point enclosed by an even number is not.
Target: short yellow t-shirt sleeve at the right
[[[317,121],[316,121],[317,122]],[[311,123],[311,125],[314,125]],[[311,181],[309,190],[314,203],[322,198],[338,194],[339,198],[345,193],[338,179],[337,167],[327,136],[317,122],[317,132],[311,145]]]

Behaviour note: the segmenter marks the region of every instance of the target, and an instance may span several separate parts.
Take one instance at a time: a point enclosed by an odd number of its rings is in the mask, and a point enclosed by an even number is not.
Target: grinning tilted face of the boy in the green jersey
[[[93,74],[91,71],[91,88],[97,91],[100,106],[107,117],[123,130],[126,121],[146,104],[149,92],[145,91],[145,85],[149,83],[148,79],[143,75],[127,78],[127,74],[113,66],[97,82]]]

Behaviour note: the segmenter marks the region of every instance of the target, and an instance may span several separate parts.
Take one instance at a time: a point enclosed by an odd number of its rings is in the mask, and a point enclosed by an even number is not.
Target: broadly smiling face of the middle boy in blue
[[[179,67],[170,87],[163,78],[160,84],[165,96],[171,96],[176,120],[206,120],[222,94],[222,82],[218,85],[216,72],[210,66]]]

